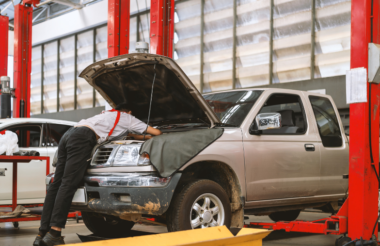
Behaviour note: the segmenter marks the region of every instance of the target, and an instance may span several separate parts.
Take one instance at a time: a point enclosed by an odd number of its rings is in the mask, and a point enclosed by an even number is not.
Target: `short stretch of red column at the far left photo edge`
[[[0,16],[0,76],[7,76],[8,71],[8,25],[9,17]]]

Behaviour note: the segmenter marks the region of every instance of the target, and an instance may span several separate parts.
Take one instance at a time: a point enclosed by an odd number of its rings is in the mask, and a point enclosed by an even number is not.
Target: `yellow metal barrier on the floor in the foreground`
[[[234,236],[225,226],[83,243],[83,246],[261,246],[271,230],[242,228]]]

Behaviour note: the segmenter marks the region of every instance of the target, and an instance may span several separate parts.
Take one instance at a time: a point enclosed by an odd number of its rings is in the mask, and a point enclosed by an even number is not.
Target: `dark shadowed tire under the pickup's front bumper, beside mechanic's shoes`
[[[124,235],[128,233],[135,222],[128,220],[112,220],[99,213],[81,212],[84,225],[97,235]]]

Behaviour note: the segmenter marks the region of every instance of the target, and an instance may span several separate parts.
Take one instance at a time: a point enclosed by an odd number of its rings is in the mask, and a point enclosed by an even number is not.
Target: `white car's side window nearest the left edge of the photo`
[[[41,147],[42,127],[40,125],[9,127],[5,131],[13,131],[17,134],[19,148]]]

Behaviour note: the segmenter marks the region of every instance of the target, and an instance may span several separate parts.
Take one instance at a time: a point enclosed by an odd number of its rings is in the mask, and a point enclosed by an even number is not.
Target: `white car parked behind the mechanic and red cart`
[[[40,156],[50,157],[50,173],[54,171],[51,164],[61,137],[75,124],[73,121],[42,118],[0,119],[0,134],[13,131],[18,136],[20,150],[36,150]],[[12,169],[12,163],[0,163],[0,205],[12,204]],[[30,163],[19,163],[17,204],[44,203],[45,178],[46,161],[32,160]]]

